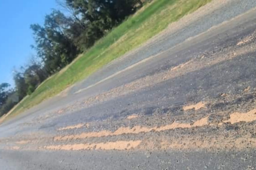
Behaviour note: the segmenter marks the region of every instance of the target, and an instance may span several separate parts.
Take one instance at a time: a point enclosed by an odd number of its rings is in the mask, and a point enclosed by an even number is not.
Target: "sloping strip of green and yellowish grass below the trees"
[[[16,115],[55,96],[211,0],[154,0],[114,28],[60,73],[48,78],[11,113]]]

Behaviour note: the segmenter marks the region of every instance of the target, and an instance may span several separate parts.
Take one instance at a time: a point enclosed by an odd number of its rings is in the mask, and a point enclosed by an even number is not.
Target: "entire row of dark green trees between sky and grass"
[[[30,25],[36,55],[14,71],[15,87],[0,84],[0,115],[30,95],[40,83],[71,63],[97,40],[141,8],[145,0],[57,0],[60,10],[43,25]],[[18,98],[18,100],[16,100]]]

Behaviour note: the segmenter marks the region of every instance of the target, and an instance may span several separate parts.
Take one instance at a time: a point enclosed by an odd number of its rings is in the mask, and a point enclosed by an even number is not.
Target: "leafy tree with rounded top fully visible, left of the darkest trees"
[[[69,64],[79,53],[77,47],[65,33],[70,27],[71,18],[53,10],[46,15],[44,26],[32,24],[38,56],[42,58],[48,74],[55,73]]]

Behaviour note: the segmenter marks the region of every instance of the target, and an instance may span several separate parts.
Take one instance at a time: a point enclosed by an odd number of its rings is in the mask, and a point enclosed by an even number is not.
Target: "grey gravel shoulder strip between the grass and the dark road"
[[[148,41],[142,47],[131,51],[127,55],[124,55],[118,60],[106,65],[103,69],[100,69],[95,74],[92,74],[89,78],[81,83],[77,83],[71,89],[67,89],[64,95],[56,96],[50,100],[44,101],[40,105],[33,107],[26,111],[26,115],[29,113],[36,113],[38,110],[57,110],[60,106],[66,106],[72,104],[82,98],[88,97],[88,95],[94,95],[96,93],[103,92],[106,89],[98,89],[92,92],[81,92],[80,94],[72,95],[75,92],[79,92],[81,89],[87,88],[104,78],[108,78],[114,73],[128,67],[140,60],[150,57],[158,52],[164,51],[168,48],[185,41],[187,38],[194,37],[200,32],[204,32],[214,25],[223,23],[228,19],[231,19],[239,14],[246,12],[247,10],[255,7],[256,2],[254,0],[213,0],[211,3],[204,7],[201,7],[196,12],[185,16],[179,22],[171,24],[168,29],[161,34]],[[153,42],[154,41],[154,42]],[[109,87],[119,86],[121,84],[113,84]],[[17,113],[21,107],[18,107],[14,112]]]

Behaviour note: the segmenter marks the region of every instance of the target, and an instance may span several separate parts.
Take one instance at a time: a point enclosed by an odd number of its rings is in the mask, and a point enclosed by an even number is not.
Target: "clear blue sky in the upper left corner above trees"
[[[0,83],[14,85],[14,66],[26,64],[34,54],[29,26],[43,24],[52,8],[57,8],[55,0],[0,0]]]

